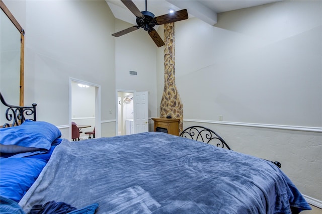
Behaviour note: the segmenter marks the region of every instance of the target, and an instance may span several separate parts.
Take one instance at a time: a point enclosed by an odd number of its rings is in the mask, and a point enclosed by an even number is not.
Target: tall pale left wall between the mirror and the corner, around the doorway
[[[26,31],[25,104],[38,104],[37,120],[65,127],[68,138],[71,77],[101,85],[102,136],[115,135],[115,40],[108,36],[115,27],[106,2],[4,2]]]

